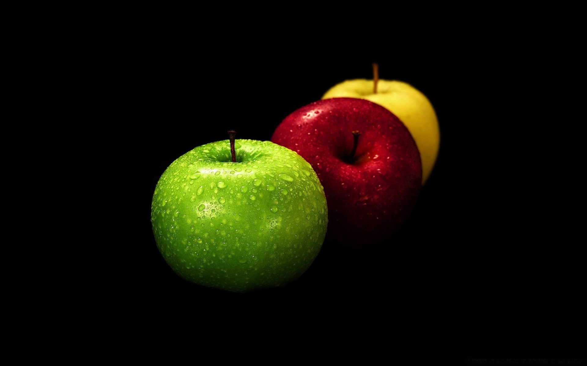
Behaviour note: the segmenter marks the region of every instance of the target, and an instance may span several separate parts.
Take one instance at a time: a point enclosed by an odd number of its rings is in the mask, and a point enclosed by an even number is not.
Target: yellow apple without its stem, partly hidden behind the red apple
[[[372,101],[392,111],[410,131],[420,150],[422,160],[422,184],[432,172],[438,146],[440,129],[432,104],[419,90],[397,80],[377,80],[373,93],[373,80],[355,79],[336,84],[323,95],[322,99],[349,97]]]

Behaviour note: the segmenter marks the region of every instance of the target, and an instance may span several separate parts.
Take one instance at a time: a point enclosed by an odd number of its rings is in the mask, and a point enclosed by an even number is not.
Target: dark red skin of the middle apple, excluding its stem
[[[349,163],[351,131],[361,135]],[[315,169],[328,201],[328,238],[340,244],[382,241],[410,216],[422,181],[420,154],[406,126],[386,108],[357,98],[316,101],[292,112],[271,141]]]

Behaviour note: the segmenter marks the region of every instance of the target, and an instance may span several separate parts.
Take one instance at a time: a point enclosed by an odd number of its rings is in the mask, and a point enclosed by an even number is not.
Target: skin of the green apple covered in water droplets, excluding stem
[[[165,170],[151,203],[157,247],[182,278],[247,292],[308,269],[326,235],[322,185],[301,156],[270,141],[207,143]]]

